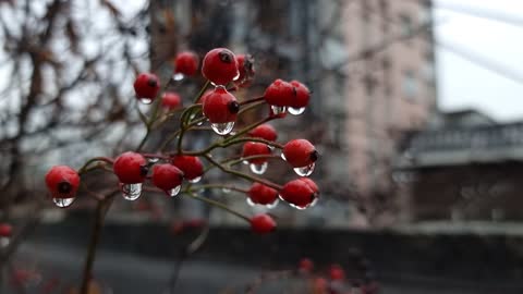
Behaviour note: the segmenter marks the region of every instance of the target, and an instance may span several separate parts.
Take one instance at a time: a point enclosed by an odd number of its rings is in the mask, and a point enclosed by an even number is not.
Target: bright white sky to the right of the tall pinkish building
[[[519,26],[443,8],[474,8],[520,19]],[[458,45],[521,76],[515,82],[437,48],[439,106],[478,109],[498,121],[523,120],[523,1],[435,0],[436,38]]]

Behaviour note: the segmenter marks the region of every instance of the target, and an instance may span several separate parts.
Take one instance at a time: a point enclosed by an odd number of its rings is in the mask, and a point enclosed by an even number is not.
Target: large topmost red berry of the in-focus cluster
[[[226,48],[216,48],[205,54],[202,73],[212,84],[223,86],[240,74],[234,53]]]

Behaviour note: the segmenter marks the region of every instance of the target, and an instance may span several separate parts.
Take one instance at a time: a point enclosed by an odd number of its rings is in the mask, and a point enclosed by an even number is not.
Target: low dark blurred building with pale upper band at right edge
[[[411,221],[521,220],[523,123],[464,110],[413,134],[394,180],[410,193]]]

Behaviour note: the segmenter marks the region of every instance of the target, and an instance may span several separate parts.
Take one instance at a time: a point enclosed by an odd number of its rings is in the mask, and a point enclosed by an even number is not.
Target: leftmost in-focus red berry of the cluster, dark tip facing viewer
[[[70,167],[54,166],[46,174],[46,185],[52,198],[74,198],[80,186],[80,175]]]

